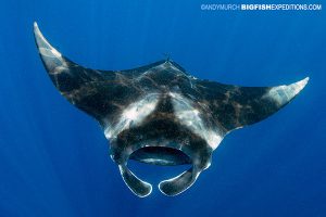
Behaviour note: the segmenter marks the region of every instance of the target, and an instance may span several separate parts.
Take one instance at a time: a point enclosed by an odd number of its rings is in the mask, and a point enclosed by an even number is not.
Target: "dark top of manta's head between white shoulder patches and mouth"
[[[170,146],[181,150],[191,159],[197,159],[196,164],[199,168],[206,167],[211,161],[212,149],[202,138],[192,133],[178,122],[173,114],[168,97],[160,101],[156,110],[142,122],[141,126],[126,129],[115,140],[112,140],[113,159],[117,164],[125,162],[125,157],[141,148],[147,141],[150,142],[150,145],[158,146],[168,141]],[[129,152],[126,151],[127,148],[131,148]]]

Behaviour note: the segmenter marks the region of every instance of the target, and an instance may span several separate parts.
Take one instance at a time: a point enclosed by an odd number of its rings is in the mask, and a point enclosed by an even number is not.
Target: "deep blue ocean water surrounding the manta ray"
[[[1,2],[1,217],[326,216],[325,10],[201,10],[211,2]],[[167,53],[192,75],[225,84],[311,79],[284,110],[228,135],[188,191],[167,197],[154,188],[139,199],[109,157],[100,127],[51,84],[34,21],[87,67],[133,68]],[[177,174],[133,166],[154,182]]]

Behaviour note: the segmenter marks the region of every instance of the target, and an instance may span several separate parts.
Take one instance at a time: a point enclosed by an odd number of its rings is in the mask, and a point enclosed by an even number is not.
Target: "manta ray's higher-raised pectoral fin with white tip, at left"
[[[37,23],[34,36],[49,77],[68,102],[98,120],[117,110],[113,101],[122,84],[116,72],[91,69],[68,60],[50,44]]]

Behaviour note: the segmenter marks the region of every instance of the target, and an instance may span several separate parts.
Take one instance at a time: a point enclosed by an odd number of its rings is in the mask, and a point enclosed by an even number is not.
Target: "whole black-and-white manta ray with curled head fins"
[[[129,159],[189,165],[159,189],[177,195],[211,165],[212,153],[235,129],[261,122],[288,104],[309,77],[277,87],[239,87],[199,79],[167,59],[125,71],[83,67],[62,55],[34,23],[41,61],[60,93],[93,117],[109,140],[110,156],[137,196],[152,186],[133,174]]]

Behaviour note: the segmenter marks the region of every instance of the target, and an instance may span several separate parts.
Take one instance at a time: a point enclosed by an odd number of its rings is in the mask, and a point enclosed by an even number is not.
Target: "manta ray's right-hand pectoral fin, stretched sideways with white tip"
[[[258,123],[287,105],[305,87],[309,77],[276,87],[238,87],[199,81],[202,99],[225,131]]]

